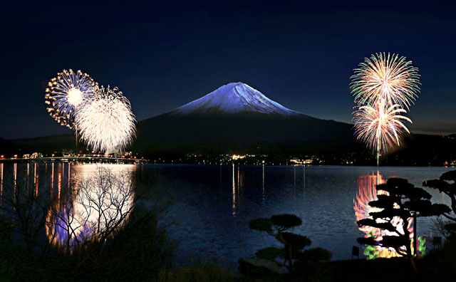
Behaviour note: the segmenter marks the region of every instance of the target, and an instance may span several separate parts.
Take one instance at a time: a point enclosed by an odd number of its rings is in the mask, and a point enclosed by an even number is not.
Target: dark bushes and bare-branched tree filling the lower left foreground
[[[150,281],[171,269],[166,201],[133,172],[98,169],[58,190],[33,180],[2,183],[0,281]]]

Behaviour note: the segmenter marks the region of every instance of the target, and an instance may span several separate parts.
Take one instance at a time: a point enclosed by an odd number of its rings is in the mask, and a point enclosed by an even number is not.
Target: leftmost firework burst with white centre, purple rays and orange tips
[[[57,73],[48,82],[44,96],[49,115],[61,125],[73,128],[76,111],[94,95],[97,87],[87,73],[71,69]]]

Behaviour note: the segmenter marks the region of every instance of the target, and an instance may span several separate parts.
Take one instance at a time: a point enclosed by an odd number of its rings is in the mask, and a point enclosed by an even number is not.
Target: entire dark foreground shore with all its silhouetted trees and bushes
[[[443,244],[428,248],[431,250],[425,256],[416,256],[405,234],[393,241],[383,236],[377,243],[364,242],[398,250],[408,246],[403,258],[329,261],[328,250],[309,249],[311,239],[291,232],[301,225],[299,217],[278,214],[253,219],[246,228],[258,236],[273,236],[281,247],[265,246],[254,258],[240,258],[239,273],[210,261],[173,265],[173,258],[179,255],[175,254],[176,242],[160,224],[167,200],[160,193],[148,194],[147,189],[141,189],[141,179],[135,176],[115,176],[100,170],[92,179],[77,179],[75,190],[59,189],[58,197],[44,186],[33,189],[28,179],[4,183],[0,281],[455,281],[455,179],[456,171],[423,183],[447,194],[451,209],[430,204],[429,194],[411,187],[405,179],[388,180],[379,189],[389,195],[370,203],[383,208],[371,214],[373,219],[398,214],[407,221],[410,216],[416,220],[418,216],[442,214],[435,222]],[[134,193],[133,182],[137,184]],[[96,193],[93,187],[97,187]],[[81,221],[84,214],[99,216],[96,221]],[[100,222],[103,224],[97,224]],[[375,221],[358,224],[375,226]],[[90,228],[81,229],[87,226]],[[78,232],[80,229],[84,232]]]

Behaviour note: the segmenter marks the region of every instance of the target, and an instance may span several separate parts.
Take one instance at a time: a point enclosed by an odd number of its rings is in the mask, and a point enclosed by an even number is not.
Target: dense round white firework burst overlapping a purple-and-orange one
[[[123,150],[135,136],[135,115],[118,88],[97,88],[97,93],[78,110],[75,122],[81,140],[94,151]]]

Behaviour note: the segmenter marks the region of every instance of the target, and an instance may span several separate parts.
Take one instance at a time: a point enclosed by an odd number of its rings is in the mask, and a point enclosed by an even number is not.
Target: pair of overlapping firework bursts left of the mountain
[[[135,115],[118,88],[99,86],[87,73],[63,70],[46,88],[48,113],[76,131],[93,151],[122,151],[135,136]]]

